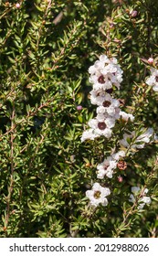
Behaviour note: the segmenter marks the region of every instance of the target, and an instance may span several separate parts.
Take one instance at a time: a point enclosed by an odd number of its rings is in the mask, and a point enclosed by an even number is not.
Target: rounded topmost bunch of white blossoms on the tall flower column
[[[115,85],[120,89],[122,70],[117,64],[117,59],[108,59],[106,55],[100,55],[100,60],[95,61],[89,69],[90,82],[94,90],[108,90]]]

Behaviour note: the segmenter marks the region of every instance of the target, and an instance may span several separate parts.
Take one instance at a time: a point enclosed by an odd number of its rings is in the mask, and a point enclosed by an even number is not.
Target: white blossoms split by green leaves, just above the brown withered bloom
[[[123,139],[120,141],[120,144],[124,147],[131,147],[131,148],[143,148],[145,143],[150,143],[153,137],[153,128],[148,128],[146,132],[142,132],[141,135],[136,137],[135,131],[133,131],[131,134],[124,133]],[[129,144],[128,139],[131,139],[131,144]]]

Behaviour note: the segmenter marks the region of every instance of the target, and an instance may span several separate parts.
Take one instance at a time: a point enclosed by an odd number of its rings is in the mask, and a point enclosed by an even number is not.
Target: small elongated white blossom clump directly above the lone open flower
[[[97,165],[97,177],[102,179],[104,176],[112,177],[114,169],[116,169],[118,161],[121,157],[125,156],[124,151],[108,156],[100,165]]]

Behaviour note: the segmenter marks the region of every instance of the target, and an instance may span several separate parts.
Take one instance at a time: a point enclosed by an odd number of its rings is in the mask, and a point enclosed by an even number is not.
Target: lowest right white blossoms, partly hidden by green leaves
[[[129,201],[132,203],[135,203],[136,197],[139,195],[141,188],[140,187],[132,187],[132,194],[130,195]],[[151,204],[152,200],[151,197],[146,197],[146,194],[148,193],[148,188],[145,188],[143,191],[143,195],[141,198],[138,200],[138,208],[142,209],[145,204],[149,205]]]

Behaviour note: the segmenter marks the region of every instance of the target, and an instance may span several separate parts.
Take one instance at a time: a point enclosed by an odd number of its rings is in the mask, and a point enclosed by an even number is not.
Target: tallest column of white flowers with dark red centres
[[[117,59],[108,59],[106,55],[101,55],[100,60],[90,67],[89,73],[93,86],[90,101],[98,106],[97,116],[88,123],[90,129],[83,132],[81,142],[87,139],[94,140],[101,135],[109,139],[116,120],[134,120],[132,114],[121,111],[120,101],[111,97],[113,87],[120,89],[122,81],[122,70]]]

